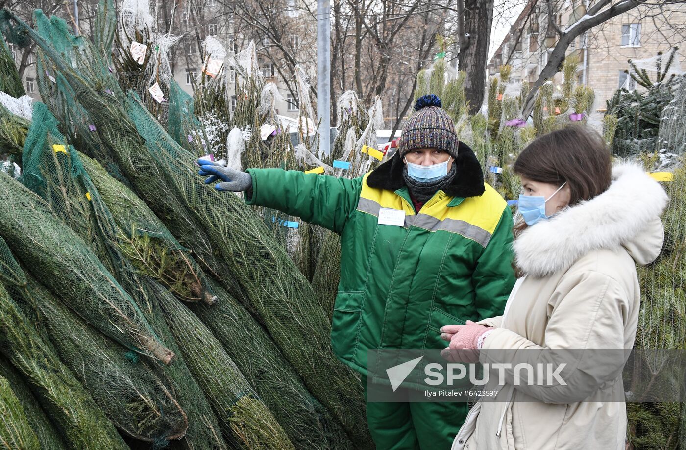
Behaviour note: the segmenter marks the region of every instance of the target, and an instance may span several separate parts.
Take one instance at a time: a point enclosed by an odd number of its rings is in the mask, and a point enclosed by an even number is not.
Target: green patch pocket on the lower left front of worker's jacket
[[[364,291],[339,291],[336,296],[331,324],[331,346],[340,358],[350,360],[355,355],[363,301]]]

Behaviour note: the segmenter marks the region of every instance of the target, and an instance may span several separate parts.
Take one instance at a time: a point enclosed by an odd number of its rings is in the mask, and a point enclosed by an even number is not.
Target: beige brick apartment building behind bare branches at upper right
[[[559,29],[581,19],[589,1],[560,0],[553,8],[554,23]],[[593,88],[596,106],[604,108],[605,101],[617,88],[640,88],[625,72],[630,70],[628,60],[644,60],[667,54],[675,45],[680,48],[674,68],[686,68],[686,4],[665,8],[641,5],[634,10],[614,17],[578,36],[567,49],[567,55],[576,54],[580,65],[578,84]],[[514,21],[510,32],[498,47],[488,64],[490,75],[498,73],[502,64],[512,66],[512,80],[534,83],[556,44],[557,34],[548,20],[547,8],[541,1],[531,0]],[[654,78],[655,74],[648,72]],[[562,81],[560,73],[554,82]]]

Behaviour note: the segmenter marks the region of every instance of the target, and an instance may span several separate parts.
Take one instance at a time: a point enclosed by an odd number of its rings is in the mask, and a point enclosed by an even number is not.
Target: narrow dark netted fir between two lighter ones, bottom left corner
[[[51,423],[43,408],[40,407],[25,379],[2,355],[0,355],[0,376],[9,381],[10,388],[24,408],[29,425],[36,434],[38,442],[40,442],[40,449],[67,450],[64,442],[62,442],[62,436],[60,436],[55,425]]]

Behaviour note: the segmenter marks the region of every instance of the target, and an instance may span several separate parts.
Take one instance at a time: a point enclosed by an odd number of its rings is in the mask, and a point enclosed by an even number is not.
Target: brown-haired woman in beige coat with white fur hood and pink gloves
[[[494,349],[526,350],[542,363],[548,349],[631,349],[640,305],[636,264],[661,250],[665,191],[640,167],[611,167],[600,136],[577,126],[530,143],[514,171],[525,220],[514,230],[519,279],[504,314],[443,327],[441,337],[491,364],[510,355]],[[496,401],[472,408],[453,450],[624,450],[624,362],[576,366],[568,380],[573,401],[544,386],[512,386],[506,371]]]

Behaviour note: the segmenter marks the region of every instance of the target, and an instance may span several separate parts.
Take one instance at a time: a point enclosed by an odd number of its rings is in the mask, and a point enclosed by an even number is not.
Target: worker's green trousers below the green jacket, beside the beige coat
[[[367,377],[362,376],[367,401]],[[450,450],[467,403],[367,401],[367,423],[377,450]]]

